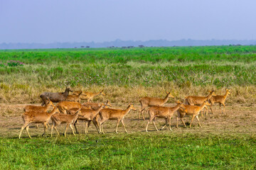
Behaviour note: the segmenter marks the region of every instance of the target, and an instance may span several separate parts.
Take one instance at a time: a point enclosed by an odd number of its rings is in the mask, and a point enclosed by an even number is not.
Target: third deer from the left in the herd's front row
[[[92,109],[81,109],[81,113],[78,115],[78,120],[85,120],[85,134],[88,133],[88,129],[90,126],[90,122],[93,120],[95,120],[95,117],[97,114],[99,114],[99,112],[102,110],[102,108],[105,106],[100,106],[99,108],[97,108],[97,110],[92,110]],[[78,133],[78,129],[76,128],[76,123],[74,124],[75,126],[75,131]],[[97,131],[100,133],[100,126],[93,122],[95,124],[95,127],[97,129]]]

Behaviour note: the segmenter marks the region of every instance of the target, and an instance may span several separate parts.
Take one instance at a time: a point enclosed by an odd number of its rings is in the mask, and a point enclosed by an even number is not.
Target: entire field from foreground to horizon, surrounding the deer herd
[[[255,74],[256,46],[0,50],[0,169],[255,169]],[[107,96],[95,101],[110,100],[114,108],[139,108],[139,98],[166,91],[176,96],[168,106],[211,89],[232,93],[226,114],[215,106],[214,115],[200,118],[203,128],[195,120],[192,129],[181,123],[176,129],[172,120],[172,132],[149,125],[146,133],[146,121],[132,112],[124,119],[128,134],[122,125],[114,134],[109,121],[105,135],[93,127],[89,135],[45,138],[42,127],[31,126],[32,140],[26,132],[18,140],[23,107],[67,83],[73,90],[104,89]]]

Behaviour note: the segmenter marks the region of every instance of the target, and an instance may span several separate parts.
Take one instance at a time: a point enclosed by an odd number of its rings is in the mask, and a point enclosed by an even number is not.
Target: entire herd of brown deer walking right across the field
[[[46,135],[46,129],[49,126],[48,121],[52,120],[52,127],[51,127],[51,136],[53,136],[53,128],[58,133],[57,130],[58,125],[61,123],[66,123],[64,135],[68,130],[68,126],[70,126],[71,130],[73,131],[73,135],[75,132],[73,130],[73,125],[75,127],[76,133],[78,133],[78,129],[76,127],[76,123],[78,120],[85,121],[85,134],[88,132],[88,128],[90,127],[90,123],[95,125],[97,132],[104,133],[103,131],[103,123],[106,120],[117,120],[117,127],[115,132],[117,133],[117,128],[119,123],[121,122],[124,126],[125,132],[127,132],[125,125],[124,125],[124,115],[127,115],[129,111],[134,110],[136,108],[130,103],[127,109],[116,109],[116,108],[108,108],[112,107],[111,104],[107,101],[106,103],[92,103],[90,102],[92,98],[95,96],[105,96],[103,91],[99,93],[90,93],[84,91],[74,91],[72,95],[69,95],[69,92],[73,92],[70,88],[66,88],[65,92],[63,93],[50,93],[45,92],[41,94],[42,98],[42,106],[26,106],[24,108],[25,113],[22,115],[23,119],[23,126],[21,128],[21,132],[18,138],[21,138],[22,131],[26,128],[26,132],[28,133],[28,137],[31,138],[28,132],[29,124],[30,123],[42,123],[44,127],[43,135]],[[139,111],[139,119],[140,114],[142,114],[142,118],[144,118],[144,111],[149,114],[149,121],[146,124],[146,132],[149,126],[149,123],[153,121],[154,127],[156,128],[155,120],[156,118],[164,118],[166,120],[165,125],[161,128],[164,129],[166,125],[169,124],[169,130],[171,130],[171,118],[175,112],[178,113],[177,115],[177,123],[176,127],[178,128],[178,120],[180,119],[183,125],[186,127],[186,124],[183,122],[183,118],[185,115],[191,115],[191,124],[193,119],[196,118],[198,120],[199,126],[201,127],[198,115],[203,110],[206,109],[206,115],[208,115],[208,108],[210,106],[210,110],[213,113],[212,106],[214,103],[220,104],[220,113],[221,113],[221,106],[224,106],[223,113],[225,111],[225,100],[230,94],[230,89],[226,89],[226,93],[223,96],[216,95],[214,91],[209,91],[208,96],[186,96],[186,104],[183,104],[181,101],[176,101],[176,106],[174,107],[166,107],[164,104],[168,101],[169,98],[174,98],[170,92],[167,92],[165,98],[151,98],[151,97],[144,97],[140,98],[139,103],[141,104],[142,108]],[[80,100],[87,100],[85,103],[80,103]],[[56,106],[53,102],[57,103]],[[48,109],[50,106],[53,107],[53,110],[48,113]],[[149,107],[149,108],[147,108]],[[147,109],[146,109],[147,108]],[[146,110],[145,110],[146,109]],[[201,113],[203,115],[203,113]],[[158,131],[158,129],[156,128]]]

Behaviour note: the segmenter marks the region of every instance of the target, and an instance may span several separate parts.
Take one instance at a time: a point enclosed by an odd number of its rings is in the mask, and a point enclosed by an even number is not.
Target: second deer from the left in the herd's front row
[[[80,113],[80,109],[78,109],[78,111],[76,111],[75,114],[73,115],[66,115],[63,113],[56,113],[54,114],[50,119],[53,121],[53,125],[51,127],[51,131],[50,131],[50,136],[53,137],[53,128],[56,130],[56,132],[58,133],[58,135],[60,135],[60,133],[57,130],[57,126],[60,125],[61,123],[66,123],[66,127],[65,127],[65,132],[64,132],[64,136],[66,137],[66,132],[68,130],[68,126],[70,126],[73,135],[75,135],[75,132],[72,128],[72,124],[75,123],[75,121],[78,119],[78,114]]]

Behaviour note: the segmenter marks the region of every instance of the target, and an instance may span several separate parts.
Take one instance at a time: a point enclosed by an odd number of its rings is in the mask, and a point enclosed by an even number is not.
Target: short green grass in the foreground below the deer
[[[255,141],[154,132],[1,138],[0,169],[255,169]]]

